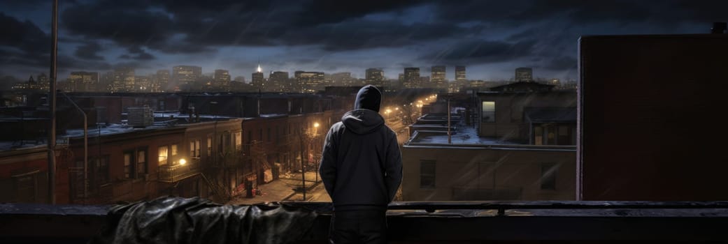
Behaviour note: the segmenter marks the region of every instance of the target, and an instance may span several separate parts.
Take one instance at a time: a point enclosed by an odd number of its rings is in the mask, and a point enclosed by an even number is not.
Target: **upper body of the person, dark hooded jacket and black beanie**
[[[397,134],[379,115],[381,93],[364,86],[326,135],[319,172],[334,211],[386,209],[402,182]]]

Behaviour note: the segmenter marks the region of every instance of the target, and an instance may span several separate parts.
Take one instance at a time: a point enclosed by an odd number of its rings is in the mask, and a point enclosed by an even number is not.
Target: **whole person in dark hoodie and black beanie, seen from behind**
[[[326,134],[319,173],[333,201],[331,243],[387,243],[387,205],[402,182],[402,155],[380,104],[379,89],[362,87],[354,110]]]

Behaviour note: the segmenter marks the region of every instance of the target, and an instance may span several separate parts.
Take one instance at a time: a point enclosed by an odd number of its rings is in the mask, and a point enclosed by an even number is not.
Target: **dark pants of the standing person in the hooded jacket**
[[[387,243],[387,211],[335,211],[329,243]]]

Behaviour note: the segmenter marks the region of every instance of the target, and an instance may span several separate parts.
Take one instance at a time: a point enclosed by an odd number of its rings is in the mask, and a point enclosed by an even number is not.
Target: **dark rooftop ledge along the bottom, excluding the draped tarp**
[[[298,243],[325,243],[331,203],[280,204],[316,210],[319,216]],[[0,204],[0,237],[3,243],[86,243],[110,207]],[[392,243],[728,240],[728,201],[397,202],[387,218]]]

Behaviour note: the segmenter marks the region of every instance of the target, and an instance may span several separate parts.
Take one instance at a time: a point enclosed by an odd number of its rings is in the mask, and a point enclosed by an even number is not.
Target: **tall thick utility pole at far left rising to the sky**
[[[55,85],[56,55],[58,54],[58,0],[53,0],[51,17],[51,44],[50,44],[50,94],[48,107],[50,107],[50,129],[48,130],[48,203],[55,204]]]

